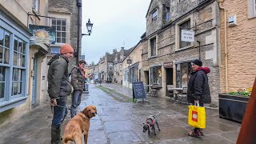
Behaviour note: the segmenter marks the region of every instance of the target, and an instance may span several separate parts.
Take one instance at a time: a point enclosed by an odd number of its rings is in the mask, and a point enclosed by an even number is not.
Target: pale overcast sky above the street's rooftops
[[[149,5],[150,0],[82,0],[82,33],[88,18],[94,23],[91,35],[82,37],[86,61],[97,63],[107,51],[135,46],[146,32]]]

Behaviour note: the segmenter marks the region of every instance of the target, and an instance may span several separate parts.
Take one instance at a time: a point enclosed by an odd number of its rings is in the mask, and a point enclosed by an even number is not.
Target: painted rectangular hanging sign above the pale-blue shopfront
[[[33,36],[30,40],[34,40],[35,42],[45,42],[45,43],[55,43],[55,34],[56,30],[54,27],[50,26],[38,26],[38,25],[30,25],[30,33]]]

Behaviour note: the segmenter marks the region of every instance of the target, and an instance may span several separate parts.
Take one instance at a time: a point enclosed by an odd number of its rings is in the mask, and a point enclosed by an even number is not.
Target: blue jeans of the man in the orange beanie
[[[58,126],[62,124],[67,114],[66,97],[59,97],[56,99],[57,105],[54,106],[54,118],[52,120],[52,126]],[[63,106],[63,107],[61,107]]]

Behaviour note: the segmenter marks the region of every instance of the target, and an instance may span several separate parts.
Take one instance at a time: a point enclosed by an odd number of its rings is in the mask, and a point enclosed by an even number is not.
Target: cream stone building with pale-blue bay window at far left
[[[43,41],[45,33],[32,27],[48,26],[48,18],[42,17],[47,5],[47,0],[0,3],[0,126],[46,101],[50,40]]]

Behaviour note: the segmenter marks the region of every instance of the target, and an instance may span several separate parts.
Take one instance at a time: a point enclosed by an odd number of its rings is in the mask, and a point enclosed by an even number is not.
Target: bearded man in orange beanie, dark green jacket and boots
[[[60,54],[54,55],[48,62],[48,65],[50,65],[47,75],[48,94],[54,112],[51,124],[51,143],[61,143],[60,125],[67,114],[67,95],[70,95],[72,90],[69,81],[68,63],[73,55],[74,49],[72,46],[64,44],[61,47]]]

